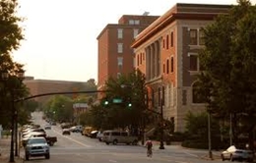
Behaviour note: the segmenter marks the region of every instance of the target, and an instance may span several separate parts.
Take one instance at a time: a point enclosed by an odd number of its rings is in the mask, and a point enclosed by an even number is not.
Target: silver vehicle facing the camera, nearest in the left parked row
[[[31,137],[25,148],[25,158],[29,160],[30,157],[44,156],[46,159],[50,158],[50,148],[44,137]]]

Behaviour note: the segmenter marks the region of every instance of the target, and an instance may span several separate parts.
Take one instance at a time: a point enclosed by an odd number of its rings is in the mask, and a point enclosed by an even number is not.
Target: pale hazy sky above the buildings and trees
[[[254,0],[255,1],[255,0]],[[18,0],[26,39],[13,53],[26,76],[40,80],[97,80],[96,37],[122,15],[161,16],[176,3],[236,4],[235,0]],[[253,1],[251,1],[253,3]]]

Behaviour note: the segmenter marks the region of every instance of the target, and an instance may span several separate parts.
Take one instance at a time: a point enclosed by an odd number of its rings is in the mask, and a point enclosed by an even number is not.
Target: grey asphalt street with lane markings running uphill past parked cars
[[[33,113],[34,124],[42,128],[46,124],[41,118],[41,113]],[[50,147],[50,159],[44,157],[32,157],[30,163],[146,163],[146,162],[172,162],[172,163],[206,163],[223,162],[220,158],[209,160],[207,150],[195,150],[183,148],[179,145],[165,145],[165,149],[159,149],[159,145],[153,147],[153,157],[146,156],[146,148],[142,145],[106,145],[96,138],[82,136],[79,133],[71,133],[71,136],[62,136],[59,125],[46,130],[48,136],[57,136],[58,141]],[[24,157],[24,151],[21,150]]]

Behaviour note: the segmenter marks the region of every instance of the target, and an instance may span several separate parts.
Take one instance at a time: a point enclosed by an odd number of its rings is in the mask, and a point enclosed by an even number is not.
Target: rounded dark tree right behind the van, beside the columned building
[[[144,102],[147,92],[145,76],[140,71],[134,71],[121,75],[118,79],[110,78],[106,81],[104,89],[107,91],[102,100],[108,100],[108,106],[105,108],[107,123],[113,128],[128,128],[138,134],[144,111],[147,109]],[[117,102],[114,102],[114,99]]]

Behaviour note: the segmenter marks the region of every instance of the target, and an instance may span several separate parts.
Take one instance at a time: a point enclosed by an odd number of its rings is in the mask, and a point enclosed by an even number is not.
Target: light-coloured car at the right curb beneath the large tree
[[[253,151],[249,149],[236,148],[234,145],[229,146],[221,154],[221,157],[224,160],[239,160],[239,161],[248,161],[252,162],[254,159]]]

